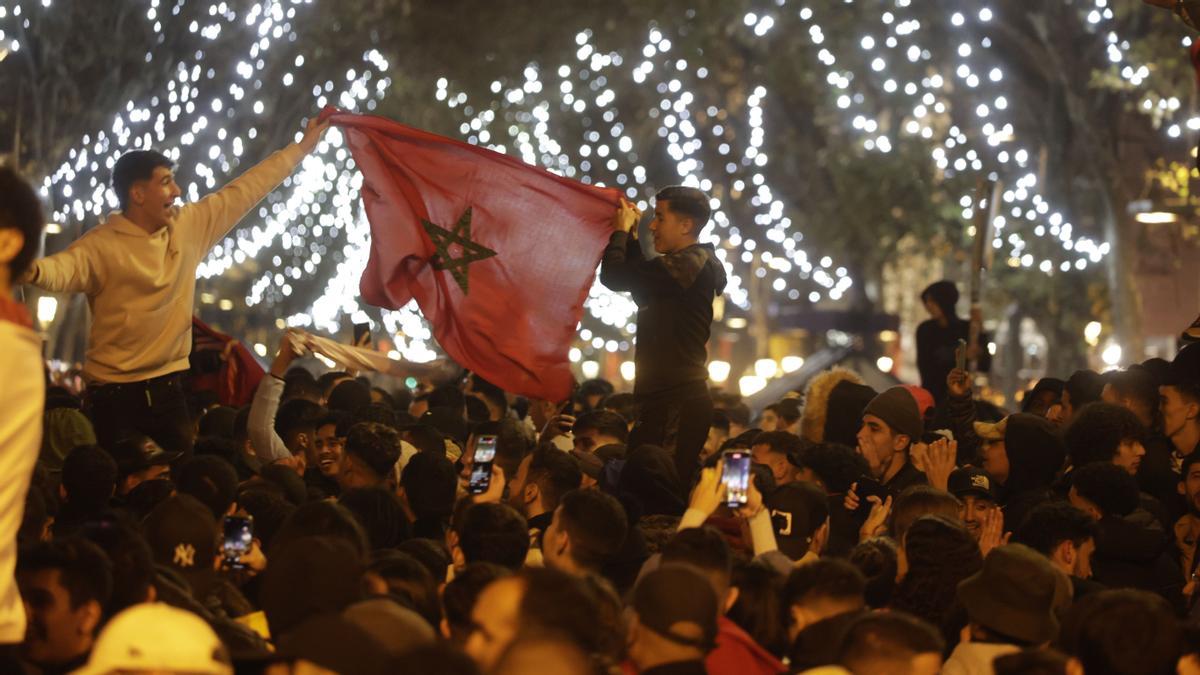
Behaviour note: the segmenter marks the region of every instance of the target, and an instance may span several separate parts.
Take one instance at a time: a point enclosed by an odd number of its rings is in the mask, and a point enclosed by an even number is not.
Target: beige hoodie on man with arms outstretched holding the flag
[[[83,375],[91,384],[137,382],[187,370],[196,268],[304,159],[292,144],[179,209],[148,234],[119,211],[65,251],[37,261],[30,282],[88,295],[91,335]]]

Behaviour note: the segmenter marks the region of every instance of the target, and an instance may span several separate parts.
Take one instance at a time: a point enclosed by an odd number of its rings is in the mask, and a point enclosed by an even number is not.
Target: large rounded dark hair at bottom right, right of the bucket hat
[[[1070,645],[1085,673],[1175,673],[1183,629],[1166,601],[1134,590],[1102,591],[1085,601]]]

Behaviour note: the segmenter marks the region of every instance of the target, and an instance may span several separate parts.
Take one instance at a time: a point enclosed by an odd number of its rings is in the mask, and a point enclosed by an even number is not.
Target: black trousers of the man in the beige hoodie
[[[144,434],[162,449],[192,455],[192,418],[184,394],[184,374],[139,382],[101,384],[88,390],[88,416],[102,448],[133,434]]]

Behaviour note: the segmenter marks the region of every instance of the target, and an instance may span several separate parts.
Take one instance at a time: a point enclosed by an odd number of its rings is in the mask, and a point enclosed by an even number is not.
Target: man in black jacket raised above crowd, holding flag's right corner
[[[600,265],[600,281],[628,291],[637,303],[634,357],[637,424],[629,447],[649,443],[674,455],[682,478],[691,477],[713,417],[708,393],[708,338],[713,300],[725,289],[725,268],[712,245],[700,244],[709,197],[673,186],[655,197],[650,233],[659,257],[647,259],[637,241],[641,213],[622,201]]]

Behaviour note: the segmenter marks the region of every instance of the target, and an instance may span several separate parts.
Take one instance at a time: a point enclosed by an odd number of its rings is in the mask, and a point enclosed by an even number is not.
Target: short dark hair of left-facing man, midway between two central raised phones
[[[563,495],[558,519],[571,537],[571,557],[588,569],[600,569],[608,562],[629,532],[624,507],[600,490],[571,490]]]

